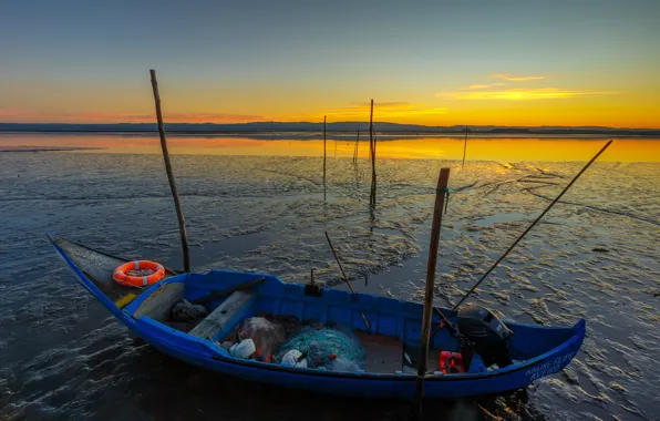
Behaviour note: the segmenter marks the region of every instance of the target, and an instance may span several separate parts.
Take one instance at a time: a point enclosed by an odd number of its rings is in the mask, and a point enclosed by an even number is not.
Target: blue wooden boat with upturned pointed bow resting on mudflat
[[[49,237],[50,238],[50,237]],[[411,399],[415,390],[414,372],[327,371],[312,368],[282,367],[257,360],[233,357],[218,346],[244,319],[265,311],[292,315],[300,321],[318,320],[352,328],[363,335],[389,337],[405,347],[420,346],[422,305],[394,298],[358,294],[358,299],[346,291],[322,288],[320,296],[306,295],[305,286],[286,284],[275,276],[229,270],[206,274],[173,274],[145,289],[122,287],[113,281],[114,268],[126,260],[80,244],[50,238],[58,254],[87,289],[110,312],[135,335],[164,353],[195,366],[243,379],[267,382],[278,387],[314,390],[364,398]],[[259,278],[264,278],[261,281]],[[166,322],[174,301],[181,298],[196,300],[231,290],[248,283],[251,288],[209,301],[208,319],[215,324],[206,337],[185,332]],[[239,305],[237,305],[237,302]],[[452,321],[456,315],[442,310]],[[369,320],[370,329],[362,319]],[[206,320],[205,320],[206,321]],[[203,321],[203,324],[205,322]],[[433,324],[440,324],[434,315]],[[215,322],[215,321],[214,321]],[[448,373],[430,372],[425,380],[425,398],[462,398],[499,393],[524,388],[534,380],[561,370],[578,352],[585,337],[585,321],[573,327],[540,327],[507,321],[514,335],[508,349],[513,363],[494,370]],[[213,340],[212,340],[213,339]],[[458,351],[458,341],[447,329],[440,329],[431,347],[435,350]]]

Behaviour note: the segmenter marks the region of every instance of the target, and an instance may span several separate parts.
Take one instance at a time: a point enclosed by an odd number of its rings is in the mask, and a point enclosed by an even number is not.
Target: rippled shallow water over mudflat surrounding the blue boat
[[[588,143],[585,158],[601,144]],[[43,239],[48,230],[182,266],[162,157],[107,152],[0,153],[0,419],[406,413],[405,402],[277,391],[207,373],[133,338]],[[381,158],[373,210],[365,160],[354,166],[330,158],[326,185],[320,157],[174,155],[173,165],[195,270],[259,270],[303,283],[318,267],[320,280],[346,288],[327,229],[355,289],[416,300],[437,173],[451,166],[436,287],[445,306],[584,165],[493,160],[462,170],[457,161]],[[586,318],[587,338],[573,363],[525,392],[432,404],[427,419],[658,419],[659,175],[657,162],[597,162],[473,298],[517,321]]]

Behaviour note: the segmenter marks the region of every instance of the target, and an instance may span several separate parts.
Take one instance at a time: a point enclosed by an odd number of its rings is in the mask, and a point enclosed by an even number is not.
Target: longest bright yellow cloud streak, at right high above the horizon
[[[617,92],[590,92],[568,91],[557,88],[543,89],[509,89],[501,91],[460,91],[439,93],[435,96],[451,97],[454,100],[504,100],[504,101],[528,101],[528,100],[558,100],[586,95],[616,94]]]

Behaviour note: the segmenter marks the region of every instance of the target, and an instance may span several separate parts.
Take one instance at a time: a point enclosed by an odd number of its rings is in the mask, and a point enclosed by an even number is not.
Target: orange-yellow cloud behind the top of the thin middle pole
[[[321,113],[332,119],[361,120],[369,119],[371,103],[352,103],[347,106],[321,109]],[[447,110],[434,107],[426,104],[414,104],[410,102],[374,102],[373,113],[379,120],[410,117],[419,115],[446,114]]]

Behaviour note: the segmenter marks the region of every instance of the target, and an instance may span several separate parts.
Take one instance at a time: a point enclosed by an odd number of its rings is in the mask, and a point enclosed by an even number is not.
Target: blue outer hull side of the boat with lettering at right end
[[[330,372],[285,368],[256,360],[239,360],[219,351],[219,348],[212,341],[181,332],[148,317],[135,318],[131,311],[117,308],[113,300],[107,299],[94,281],[85,275],[85,270],[79,268],[56,242],[52,242],[52,244],[85,289],[136,336],[171,357],[245,380],[270,383],[277,387],[305,389],[319,393],[374,399],[411,399],[414,394],[416,381],[414,374],[402,372],[396,374]],[[176,281],[177,278],[185,279],[187,276],[181,275],[165,283]],[[152,286],[144,294],[148,295],[149,290],[154,288],[158,288],[158,285]],[[530,342],[519,343],[527,347],[527,349],[534,349],[535,345],[532,342],[539,342],[547,338],[555,338],[555,341],[559,337],[566,339],[561,339],[560,343],[546,352],[495,371],[444,376],[440,373],[430,374],[425,380],[424,397],[429,399],[454,399],[501,393],[524,388],[534,380],[558,372],[566,367],[579,351],[585,337],[584,320],[578,321],[574,327],[538,327],[515,322],[508,322],[507,325],[516,331],[516,335],[514,335],[515,340]]]

